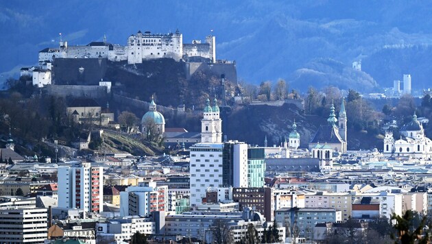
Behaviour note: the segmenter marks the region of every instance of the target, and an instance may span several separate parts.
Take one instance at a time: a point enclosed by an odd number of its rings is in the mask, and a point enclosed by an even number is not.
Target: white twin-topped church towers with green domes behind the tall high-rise
[[[210,106],[210,99],[207,98],[204,107],[204,117],[201,120],[201,142],[221,143],[222,142],[222,120],[219,118],[219,106],[214,99],[213,108]]]

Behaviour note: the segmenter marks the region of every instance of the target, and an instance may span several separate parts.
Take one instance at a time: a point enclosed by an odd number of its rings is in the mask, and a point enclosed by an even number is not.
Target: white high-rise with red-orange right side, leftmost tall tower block
[[[104,169],[88,162],[58,167],[58,206],[101,212],[104,206]]]

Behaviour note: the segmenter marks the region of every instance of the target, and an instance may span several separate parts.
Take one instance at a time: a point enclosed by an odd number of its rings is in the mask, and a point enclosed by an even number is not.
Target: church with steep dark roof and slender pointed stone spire
[[[346,152],[346,110],[344,99],[342,99],[341,109],[339,110],[339,120],[336,119],[335,106],[333,102],[330,107],[330,115],[328,116],[328,125],[321,125],[315,136],[309,143],[309,151],[317,145],[326,145],[331,147],[333,151],[341,153]]]

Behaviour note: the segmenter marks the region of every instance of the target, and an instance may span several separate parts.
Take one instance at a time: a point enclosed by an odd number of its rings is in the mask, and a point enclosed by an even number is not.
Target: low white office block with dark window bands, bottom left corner
[[[0,208],[0,243],[44,243],[46,208]]]

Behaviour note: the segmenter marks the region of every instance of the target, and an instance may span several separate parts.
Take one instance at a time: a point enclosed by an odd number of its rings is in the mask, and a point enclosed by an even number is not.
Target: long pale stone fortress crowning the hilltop
[[[58,48],[46,48],[39,51],[38,61],[52,62],[56,58],[107,58],[112,62],[128,61],[128,64],[141,64],[143,60],[172,58],[189,60],[200,57],[208,62],[216,62],[215,36],[206,36],[205,42],[193,40],[184,44],[183,36],[177,30],[169,34],[152,34],[151,32],[130,35],[125,46],[112,45],[106,42],[91,42],[88,45],[68,46],[67,41],[60,40]]]

